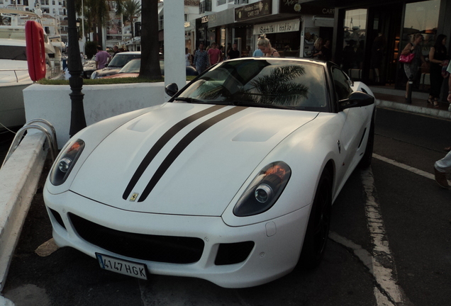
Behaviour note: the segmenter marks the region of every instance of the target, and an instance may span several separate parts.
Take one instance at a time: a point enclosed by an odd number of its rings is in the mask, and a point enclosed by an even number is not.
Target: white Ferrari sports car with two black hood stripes
[[[372,91],[331,62],[261,57],[166,92],[62,149],[44,191],[55,242],[109,271],[226,288],[318,266],[333,201],[372,159]]]

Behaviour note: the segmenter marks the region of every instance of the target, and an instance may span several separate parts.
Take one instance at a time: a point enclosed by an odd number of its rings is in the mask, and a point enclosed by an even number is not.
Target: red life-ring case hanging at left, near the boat
[[[35,21],[25,24],[25,38],[28,62],[28,74],[33,81],[45,77],[45,45],[44,29]]]

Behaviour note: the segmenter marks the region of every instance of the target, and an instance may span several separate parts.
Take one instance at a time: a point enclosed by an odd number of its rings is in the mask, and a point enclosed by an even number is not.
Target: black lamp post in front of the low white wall
[[[70,137],[74,136],[86,128],[86,119],[84,118],[83,107],[83,66],[80,57],[80,49],[78,45],[78,29],[75,20],[75,3],[74,0],[67,0],[67,40],[69,41],[67,68],[69,69],[69,85],[72,93],[69,94],[72,103],[72,111],[70,115]]]

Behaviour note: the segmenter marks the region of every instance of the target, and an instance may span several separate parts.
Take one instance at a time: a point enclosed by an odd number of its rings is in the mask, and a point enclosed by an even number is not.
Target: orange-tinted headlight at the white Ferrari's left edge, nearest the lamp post
[[[80,154],[84,149],[84,141],[77,140],[71,142],[65,149],[65,152],[61,154],[60,159],[53,164],[52,172],[50,173],[50,182],[59,186],[64,183],[69,176],[70,171],[74,168],[74,164],[77,162]]]

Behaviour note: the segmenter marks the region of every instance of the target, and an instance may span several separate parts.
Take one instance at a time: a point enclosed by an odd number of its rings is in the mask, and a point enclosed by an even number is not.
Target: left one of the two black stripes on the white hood
[[[122,198],[124,200],[127,200],[128,195],[130,195],[130,193],[133,191],[133,188],[135,188],[136,183],[138,183],[145,169],[147,169],[147,166],[149,166],[150,162],[152,162],[152,159],[154,159],[155,156],[157,156],[158,152],[160,152],[160,150],[167,144],[167,142],[169,142],[169,140],[172,139],[172,137],[174,137],[174,135],[176,135],[183,128],[185,128],[186,125],[189,125],[195,120],[198,120],[199,118],[202,118],[210,113],[213,113],[214,111],[218,111],[223,107],[225,106],[217,105],[212,106],[210,108],[206,108],[204,111],[200,111],[199,113],[195,113],[194,115],[190,115],[189,117],[180,120],[172,128],[167,130],[167,132],[165,132],[165,134],[162,135],[162,137],[160,137],[160,139],[157,140],[157,142],[155,142],[155,145],[153,145],[153,147],[144,157],[143,162],[141,162],[141,164],[138,166],[138,169],[136,169],[135,174],[133,174],[132,178],[130,179],[130,182],[128,183],[126,191],[124,191]]]

